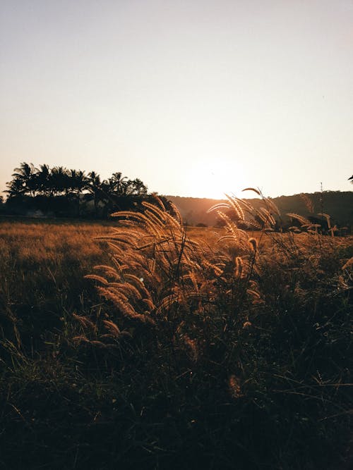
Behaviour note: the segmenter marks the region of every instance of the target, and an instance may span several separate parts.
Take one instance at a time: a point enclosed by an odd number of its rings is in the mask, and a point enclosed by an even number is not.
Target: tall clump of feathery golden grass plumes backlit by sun
[[[155,204],[144,205],[143,213],[113,214],[119,225],[100,237],[110,247],[112,263],[95,266],[97,273],[86,278],[114,305],[114,321],[131,319],[160,328],[172,321],[179,338],[189,338],[186,323],[200,317],[209,321],[220,313],[220,305],[237,311],[261,304],[259,281],[268,264],[319,273],[325,256],[352,242],[319,235],[316,226],[296,214],[291,216],[300,227],[275,233],[280,213],[266,198],[258,209],[236,197],[211,208],[224,221],[222,229],[186,228],[179,211],[174,207],[169,214],[157,197]],[[347,286],[344,276],[337,282]]]

